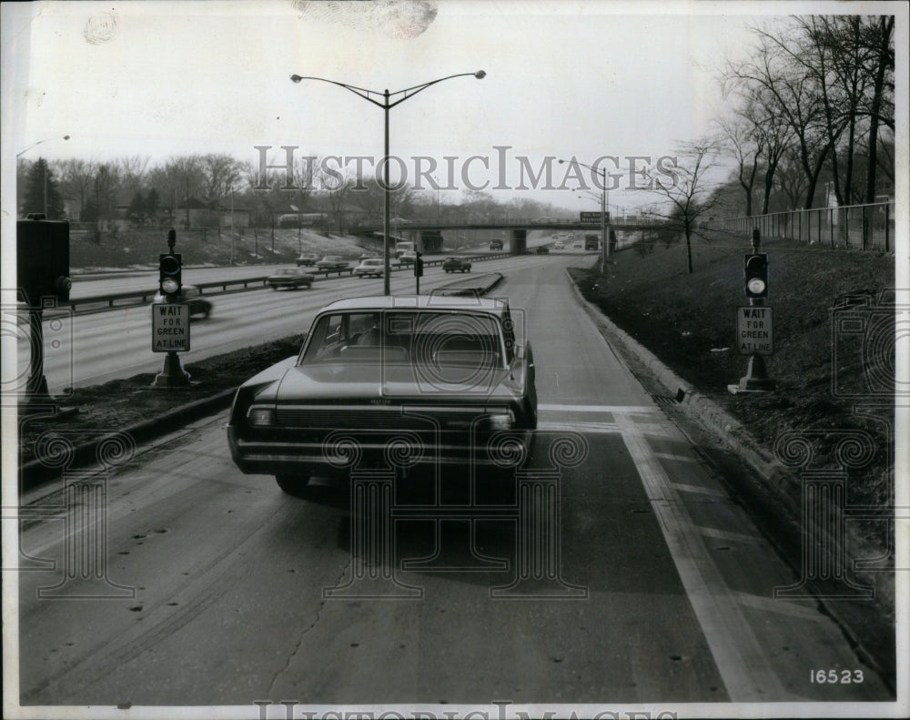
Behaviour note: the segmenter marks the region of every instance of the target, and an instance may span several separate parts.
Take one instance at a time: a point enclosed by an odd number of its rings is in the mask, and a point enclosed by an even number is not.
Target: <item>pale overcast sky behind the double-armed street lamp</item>
[[[290,145],[295,157],[370,157],[364,167],[375,176],[382,109],[342,87],[296,85],[289,76],[394,93],[482,69],[482,80],[452,78],[390,110],[390,152],[402,158],[393,176],[398,167],[409,178],[422,169],[424,187],[435,177],[456,196],[480,188],[503,201],[596,209],[596,192],[572,189],[575,177],[563,182],[568,166],[552,160],[549,184],[541,167],[545,157],[590,165],[612,156],[619,161],[602,166],[616,173],[610,202],[631,209],[657,198],[628,189],[627,158],[653,163],[715,129],[729,109],[719,69],[748,53],[751,26],[875,5],[5,3],[4,165],[23,150],[29,159],[141,156],[150,165],[214,152],[258,164],[256,146],[273,148],[272,164]],[[597,191],[590,173],[582,180]]]

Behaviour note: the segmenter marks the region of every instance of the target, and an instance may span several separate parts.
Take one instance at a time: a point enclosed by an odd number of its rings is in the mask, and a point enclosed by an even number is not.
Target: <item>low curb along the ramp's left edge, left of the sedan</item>
[[[187,402],[174,410],[158,415],[151,420],[137,422],[130,425],[122,431],[129,435],[134,441],[150,440],[168,432],[175,431],[179,428],[180,423],[186,423],[199,418],[204,418],[217,411],[222,411],[230,406],[237,388],[228,388],[221,390],[216,395],[212,395],[202,400]],[[86,441],[76,445],[73,448],[73,454],[70,462],[66,465],[66,470],[73,470],[77,467],[85,466],[89,462],[98,460],[98,448],[107,439],[113,437],[114,433],[102,435],[95,440]],[[50,478],[49,473],[54,473],[55,477],[59,475],[60,468],[48,467],[40,460],[25,462],[19,468],[20,491],[33,490]]]

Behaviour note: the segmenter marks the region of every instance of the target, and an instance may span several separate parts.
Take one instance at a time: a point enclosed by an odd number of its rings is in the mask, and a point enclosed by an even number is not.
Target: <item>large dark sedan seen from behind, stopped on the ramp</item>
[[[537,427],[531,342],[514,327],[503,299],[337,300],[296,357],[238,388],[231,458],[298,496],[314,474],[349,477],[355,467],[514,472]]]

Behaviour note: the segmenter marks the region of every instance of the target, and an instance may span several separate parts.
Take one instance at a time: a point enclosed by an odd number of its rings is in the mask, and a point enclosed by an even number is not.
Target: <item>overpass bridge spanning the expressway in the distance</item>
[[[649,232],[666,227],[666,223],[652,218],[614,218],[610,229],[617,236],[635,232]],[[390,237],[398,240],[410,240],[421,252],[441,252],[443,248],[442,233],[451,231],[500,231],[503,249],[507,252],[522,253],[528,249],[528,233],[532,230],[572,230],[601,235],[601,223],[581,222],[578,218],[499,218],[483,220],[425,221],[409,220],[389,224]],[[349,228],[354,235],[382,236],[383,225],[360,222]],[[500,239],[491,238],[491,239]]]

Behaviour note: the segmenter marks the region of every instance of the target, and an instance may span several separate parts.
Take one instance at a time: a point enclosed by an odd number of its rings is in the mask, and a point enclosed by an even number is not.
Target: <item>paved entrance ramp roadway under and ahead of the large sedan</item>
[[[540,482],[555,483],[557,505],[532,503],[523,515],[514,487],[500,487],[457,514],[450,498],[464,490],[463,469],[446,469],[433,507],[430,483],[400,482],[385,518],[393,582],[377,599],[351,552],[359,515],[345,485],[317,478],[307,501],[289,498],[271,478],[234,468],[225,415],[200,421],[98,480],[106,582],[39,597],[93,569],[90,557],[65,554],[67,538],[70,548],[86,540],[66,535],[66,516],[87,506],[73,500],[56,520],[29,522],[23,550],[57,564],[18,574],[23,702],[252,712],[255,701],[294,698],[887,698],[815,603],[773,599],[793,571],[575,304],[571,261],[517,263],[496,293],[526,313],[541,403],[531,466],[551,471]],[[567,440],[574,452],[554,450]],[[539,532],[524,536],[529,518]],[[520,582],[527,557],[545,577]],[[827,668],[861,671],[864,682],[810,682]]]

